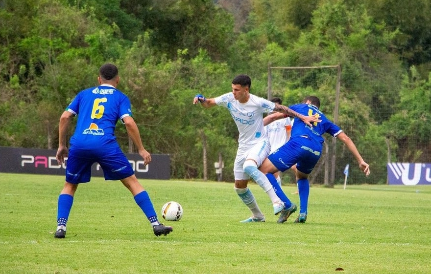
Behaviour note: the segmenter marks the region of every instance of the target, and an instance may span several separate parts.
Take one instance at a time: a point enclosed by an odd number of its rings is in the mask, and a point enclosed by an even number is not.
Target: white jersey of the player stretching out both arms
[[[267,140],[268,135],[263,127],[263,113],[274,110],[275,103],[250,94],[247,103],[235,100],[232,92],[215,98],[216,104],[229,109],[239,131],[239,147],[253,145]]]

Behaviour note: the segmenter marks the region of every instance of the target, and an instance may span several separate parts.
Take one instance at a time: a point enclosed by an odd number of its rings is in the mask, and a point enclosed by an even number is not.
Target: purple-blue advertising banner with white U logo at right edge
[[[388,163],[389,185],[431,185],[431,163]]]

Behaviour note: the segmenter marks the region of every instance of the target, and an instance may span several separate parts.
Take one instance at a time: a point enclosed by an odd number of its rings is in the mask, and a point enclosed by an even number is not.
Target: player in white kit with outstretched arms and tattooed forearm
[[[312,122],[320,122],[314,116],[301,115],[284,105],[276,105],[271,101],[250,94],[250,87],[250,77],[240,74],[232,81],[232,92],[216,98],[205,98],[202,94],[197,94],[193,99],[193,104],[200,103],[205,108],[215,105],[226,107],[238,127],[239,144],[234,164],[235,191],[252,212],[250,218],[241,221],[244,223],[265,221],[256,199],[247,187],[250,177],[256,178],[254,174],[259,172],[258,167],[270,151],[268,136],[263,127],[263,113],[283,111],[286,116],[298,117],[310,126]],[[285,204],[275,194],[272,185],[267,180],[255,179],[255,181],[270,197],[274,214],[280,213],[285,208]]]

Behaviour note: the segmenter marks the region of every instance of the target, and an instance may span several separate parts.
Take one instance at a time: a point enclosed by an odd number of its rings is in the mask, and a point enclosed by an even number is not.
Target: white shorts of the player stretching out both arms
[[[245,173],[242,166],[245,160],[253,159],[258,167],[260,167],[263,161],[268,157],[271,146],[268,140],[259,142],[250,146],[243,146],[238,148],[237,157],[235,158],[234,164],[234,176],[235,180],[248,180],[250,176]]]

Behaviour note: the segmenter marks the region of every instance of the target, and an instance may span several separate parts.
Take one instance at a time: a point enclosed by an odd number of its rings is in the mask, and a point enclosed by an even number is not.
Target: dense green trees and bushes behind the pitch
[[[429,162],[431,0],[305,2],[0,0],[0,146],[55,149],[64,107],[113,62],[145,148],[171,156],[172,178],[202,178],[205,147],[209,178],[221,153],[232,181],[236,126],[193,96],[229,92],[247,73],[264,97],[268,64],[340,64],[338,124],[370,164],[367,182],[385,182],[387,161]],[[332,114],[333,87],[289,86],[278,90],[285,105],[315,93]],[[133,151],[124,128],[117,133]],[[340,183],[356,163],[337,146]],[[364,179],[356,168],[351,176]]]

